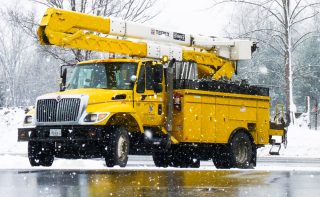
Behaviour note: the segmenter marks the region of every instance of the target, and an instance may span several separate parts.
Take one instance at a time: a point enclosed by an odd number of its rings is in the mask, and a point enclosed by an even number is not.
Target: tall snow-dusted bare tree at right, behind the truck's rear
[[[216,0],[211,8],[225,3],[235,3],[240,8],[246,5],[244,10],[236,9],[238,12],[243,12],[243,16],[247,18],[240,19],[242,20],[239,23],[240,28],[237,28],[237,32],[233,32],[233,37],[258,40],[281,56],[283,74],[277,74],[284,79],[287,119],[292,120],[296,108],[292,87],[293,53],[301,43],[318,36],[316,30],[301,27],[319,14],[320,3],[317,0]],[[242,25],[250,22],[253,24]]]

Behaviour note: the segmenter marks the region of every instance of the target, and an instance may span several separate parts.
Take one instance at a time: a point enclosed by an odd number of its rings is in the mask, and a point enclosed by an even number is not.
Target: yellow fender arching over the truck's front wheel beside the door
[[[140,120],[139,116],[137,115],[137,111],[130,105],[123,105],[123,104],[110,105],[108,103],[101,103],[101,104],[88,105],[86,111],[87,111],[87,113],[96,113],[96,112],[110,112],[111,113],[110,116],[106,120],[104,120],[98,124],[95,124],[95,125],[107,124],[109,119],[114,114],[117,114],[117,113],[130,114],[135,119],[137,124],[139,125],[139,129],[140,129],[141,133],[144,133],[144,129],[141,124],[141,120]]]

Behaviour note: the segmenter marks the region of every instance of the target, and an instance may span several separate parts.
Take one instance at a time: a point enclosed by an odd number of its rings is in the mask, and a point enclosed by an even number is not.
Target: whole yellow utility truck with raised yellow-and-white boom
[[[127,58],[61,67],[60,92],[39,96],[18,129],[32,166],[51,166],[57,157],[125,167],[129,154],[149,154],[158,167],[197,168],[212,159],[217,168],[249,168],[272,136],[285,139],[283,121],[269,120],[269,89],[231,81],[237,61],[251,59],[250,40],[54,8],[38,36],[42,45]]]

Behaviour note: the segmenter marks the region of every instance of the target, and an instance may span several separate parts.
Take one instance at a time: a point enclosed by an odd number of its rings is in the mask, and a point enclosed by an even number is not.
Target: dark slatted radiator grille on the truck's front
[[[66,122],[76,121],[80,108],[80,99],[64,98],[41,99],[37,103],[38,122]]]

